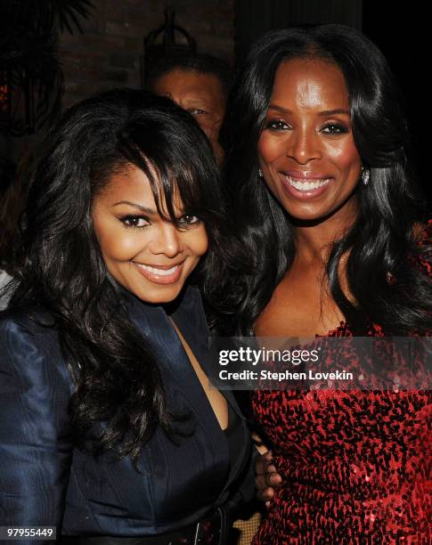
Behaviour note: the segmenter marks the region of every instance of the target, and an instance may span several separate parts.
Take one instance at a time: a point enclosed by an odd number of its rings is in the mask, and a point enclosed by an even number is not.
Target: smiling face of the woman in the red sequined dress
[[[345,79],[335,64],[281,63],[257,152],[265,183],[294,220],[355,219],[362,161]]]

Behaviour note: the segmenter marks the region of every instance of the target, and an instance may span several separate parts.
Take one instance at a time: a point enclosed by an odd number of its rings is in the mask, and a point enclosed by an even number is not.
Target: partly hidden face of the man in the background
[[[167,96],[192,114],[207,134],[220,162],[224,153],[218,138],[224,121],[225,99],[219,78],[213,74],[174,69],[159,77],[152,91]]]

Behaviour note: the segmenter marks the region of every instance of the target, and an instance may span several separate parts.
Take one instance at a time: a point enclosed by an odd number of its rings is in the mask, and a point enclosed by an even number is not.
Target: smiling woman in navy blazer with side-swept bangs
[[[74,544],[224,543],[254,486],[193,285],[224,263],[205,135],[167,99],[100,94],[48,134],[30,185],[0,315],[2,525],[22,542],[54,526]]]

